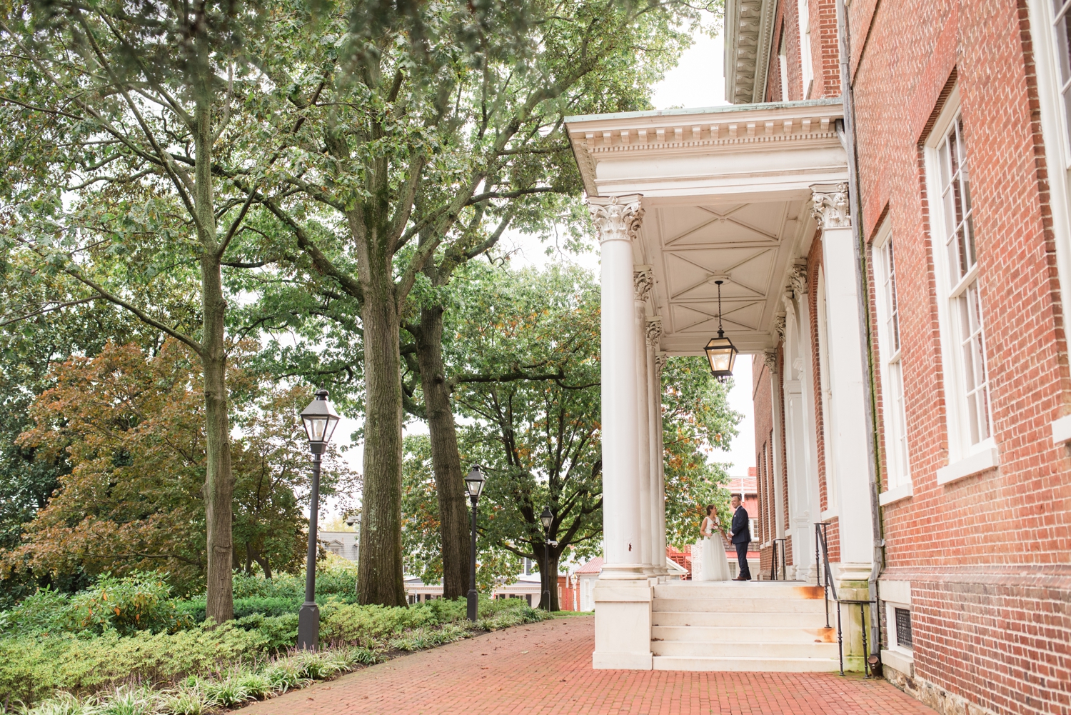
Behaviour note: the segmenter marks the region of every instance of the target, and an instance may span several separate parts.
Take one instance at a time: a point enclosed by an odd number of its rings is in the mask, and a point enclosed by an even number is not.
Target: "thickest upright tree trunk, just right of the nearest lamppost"
[[[373,254],[374,255],[374,254]],[[357,590],[361,604],[405,606],[402,578],[402,356],[389,258],[362,270],[364,490]]]

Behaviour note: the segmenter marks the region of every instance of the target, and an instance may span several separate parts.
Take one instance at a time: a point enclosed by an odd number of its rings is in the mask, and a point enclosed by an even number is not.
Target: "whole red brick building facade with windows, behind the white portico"
[[[820,226],[753,358],[764,565],[805,513],[836,570],[842,533],[870,538],[836,494],[873,474],[884,672],[947,713],[1071,712],[1069,5],[848,3],[868,457],[838,457]],[[841,96],[833,0],[730,0],[726,23],[730,101]]]

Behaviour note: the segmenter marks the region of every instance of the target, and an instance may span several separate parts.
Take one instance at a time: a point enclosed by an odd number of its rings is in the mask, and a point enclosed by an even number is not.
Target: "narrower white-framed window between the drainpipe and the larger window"
[[[878,229],[872,250],[878,319],[881,375],[881,412],[885,430],[886,475],[891,497],[909,496],[911,483],[907,449],[907,409],[904,404],[904,369],[900,344],[900,304],[896,298],[896,252],[887,220]],[[904,489],[907,488],[907,489]],[[889,502],[886,502],[887,504]]]

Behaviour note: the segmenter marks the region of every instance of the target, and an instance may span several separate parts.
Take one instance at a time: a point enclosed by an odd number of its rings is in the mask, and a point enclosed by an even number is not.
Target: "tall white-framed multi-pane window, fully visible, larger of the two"
[[[991,449],[994,444],[970,170],[959,88],[950,94],[934,125],[926,153],[951,463]],[[975,472],[953,471],[957,476]]]

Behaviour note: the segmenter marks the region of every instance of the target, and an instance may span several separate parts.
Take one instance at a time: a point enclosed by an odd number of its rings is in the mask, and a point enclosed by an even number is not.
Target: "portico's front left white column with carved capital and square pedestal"
[[[603,553],[592,592],[594,668],[651,669],[651,593],[642,566],[632,241],[640,196],[588,198],[602,248]]]

